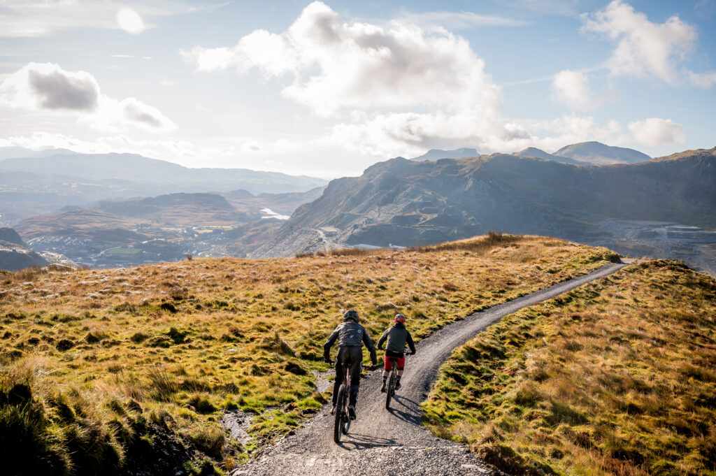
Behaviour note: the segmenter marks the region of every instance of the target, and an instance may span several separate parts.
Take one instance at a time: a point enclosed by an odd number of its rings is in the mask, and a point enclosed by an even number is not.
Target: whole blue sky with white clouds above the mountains
[[[0,147],[337,178],[716,146],[716,0],[0,0]]]

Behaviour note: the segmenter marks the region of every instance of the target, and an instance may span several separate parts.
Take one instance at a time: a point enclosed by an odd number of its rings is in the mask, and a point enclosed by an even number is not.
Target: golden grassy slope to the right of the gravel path
[[[716,475],[716,280],[651,261],[455,349],[436,434],[511,474]]]

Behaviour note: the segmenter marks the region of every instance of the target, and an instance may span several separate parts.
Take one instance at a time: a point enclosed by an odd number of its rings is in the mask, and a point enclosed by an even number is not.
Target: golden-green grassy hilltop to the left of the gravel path
[[[342,309],[357,309],[373,336],[400,311],[421,338],[614,258],[490,235],[405,251],[6,273],[0,447],[15,457],[4,469],[112,474],[157,452],[188,472],[230,469],[320,407],[311,371],[326,369],[321,346]],[[254,415],[251,442],[226,438],[227,409]]]

